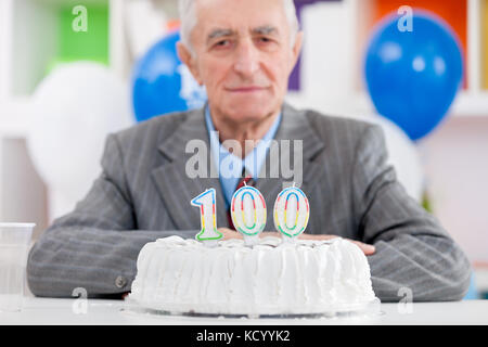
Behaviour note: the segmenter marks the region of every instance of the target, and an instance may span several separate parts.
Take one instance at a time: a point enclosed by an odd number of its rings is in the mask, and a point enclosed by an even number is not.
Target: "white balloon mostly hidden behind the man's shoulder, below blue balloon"
[[[421,203],[425,189],[425,174],[419,151],[407,133],[391,120],[377,115],[348,115],[382,127],[388,151],[387,163],[395,168],[398,181],[407,193]]]

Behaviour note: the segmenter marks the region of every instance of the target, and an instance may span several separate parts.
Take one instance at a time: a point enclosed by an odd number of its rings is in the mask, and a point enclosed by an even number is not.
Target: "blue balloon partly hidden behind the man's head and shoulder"
[[[204,105],[205,89],[178,57],[179,40],[178,31],[167,35],[137,62],[132,72],[132,103],[138,121]]]

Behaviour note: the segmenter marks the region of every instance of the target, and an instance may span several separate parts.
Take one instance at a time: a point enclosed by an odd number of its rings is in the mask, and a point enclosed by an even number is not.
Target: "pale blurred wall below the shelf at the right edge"
[[[488,262],[488,111],[451,117],[420,145],[435,215],[474,262]]]

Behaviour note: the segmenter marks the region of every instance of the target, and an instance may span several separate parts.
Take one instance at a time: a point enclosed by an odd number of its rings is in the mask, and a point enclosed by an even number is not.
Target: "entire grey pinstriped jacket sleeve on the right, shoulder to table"
[[[386,164],[383,130],[369,126],[357,144],[352,191],[363,242],[374,244],[368,257],[373,290],[383,301],[459,300],[467,292],[471,266],[461,248],[397,181]]]

